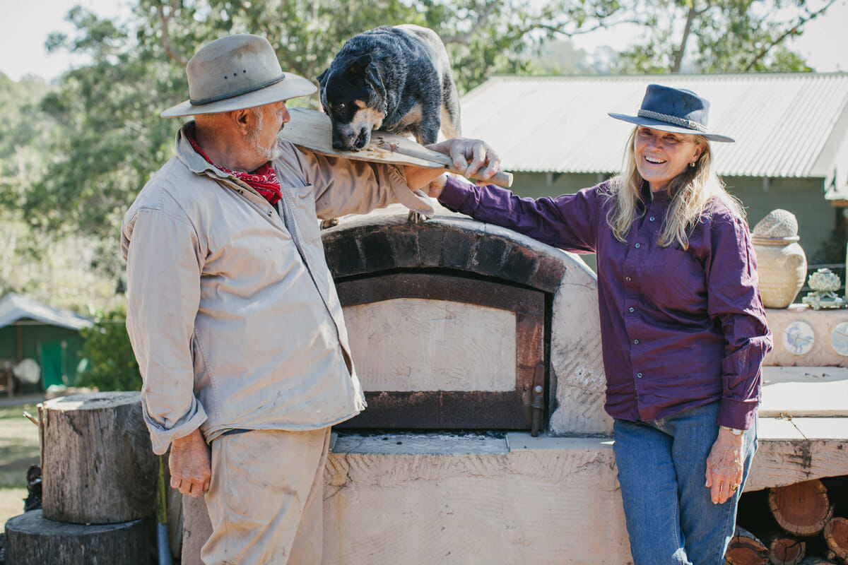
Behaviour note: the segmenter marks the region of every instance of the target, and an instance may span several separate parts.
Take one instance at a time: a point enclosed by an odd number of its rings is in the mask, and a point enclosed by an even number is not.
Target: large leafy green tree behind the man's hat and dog
[[[172,154],[176,120],[158,114],[186,97],[188,55],[215,37],[263,35],[284,69],[314,78],[360,30],[427,25],[446,37],[465,91],[493,71],[524,69],[522,37],[543,24],[547,33],[572,33],[574,11],[556,14],[551,4],[532,12],[518,0],[138,0],[131,21],[119,22],[73,8],[75,36],[53,35],[48,47],[86,53],[92,63],[65,73],[43,99],[57,133],[24,211],[41,228],[98,236],[107,251],[99,263],[120,269],[115,246],[123,213]],[[315,107],[317,98],[293,103]]]

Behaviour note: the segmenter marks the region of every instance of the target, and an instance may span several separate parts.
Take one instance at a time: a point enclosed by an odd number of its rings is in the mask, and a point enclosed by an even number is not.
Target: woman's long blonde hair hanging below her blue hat
[[[610,182],[608,197],[615,199],[606,218],[613,235],[618,241],[627,241],[628,232],[636,217],[641,200],[644,179],[636,168],[634,143],[639,126],[628,137],[628,147],[624,152],[622,174]],[[660,232],[660,245],[667,247],[677,241],[683,249],[689,247],[689,234],[700,223],[715,202],[722,202],[739,218],[745,218],[745,210],[739,199],[729,194],[724,183],[712,171],[712,152],[710,141],[704,136],[695,135],[695,143],[704,147],[694,167],[687,167],[667,186],[671,205],[668,207],[665,221]]]

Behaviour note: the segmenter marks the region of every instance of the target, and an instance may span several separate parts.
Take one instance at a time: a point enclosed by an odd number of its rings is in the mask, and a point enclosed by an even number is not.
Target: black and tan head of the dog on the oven
[[[318,76],[321,106],[330,116],[332,147],[359,151],[386,117],[386,89],[370,54],[337,58]]]

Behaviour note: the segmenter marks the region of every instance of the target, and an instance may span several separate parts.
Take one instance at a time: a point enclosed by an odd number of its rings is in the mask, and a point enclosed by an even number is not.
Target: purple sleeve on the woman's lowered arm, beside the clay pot
[[[718,424],[749,429],[760,403],[762,360],[772,349],[757,286],[748,226],[728,214],[714,219],[707,268],[708,310],[722,325],[722,400]]]

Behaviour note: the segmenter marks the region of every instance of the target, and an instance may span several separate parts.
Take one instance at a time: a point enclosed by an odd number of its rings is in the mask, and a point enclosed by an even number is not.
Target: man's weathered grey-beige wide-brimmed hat
[[[186,75],[190,98],[165,110],[163,118],[255,108],[317,90],[310,80],[282,72],[265,37],[247,34],[200,47],[188,61]]]

